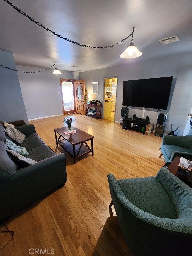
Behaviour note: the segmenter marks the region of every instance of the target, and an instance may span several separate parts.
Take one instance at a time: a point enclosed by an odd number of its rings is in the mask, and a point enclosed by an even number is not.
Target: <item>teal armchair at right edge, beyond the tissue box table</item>
[[[192,135],[163,135],[161,155],[165,162],[171,162],[176,156],[192,160]]]

